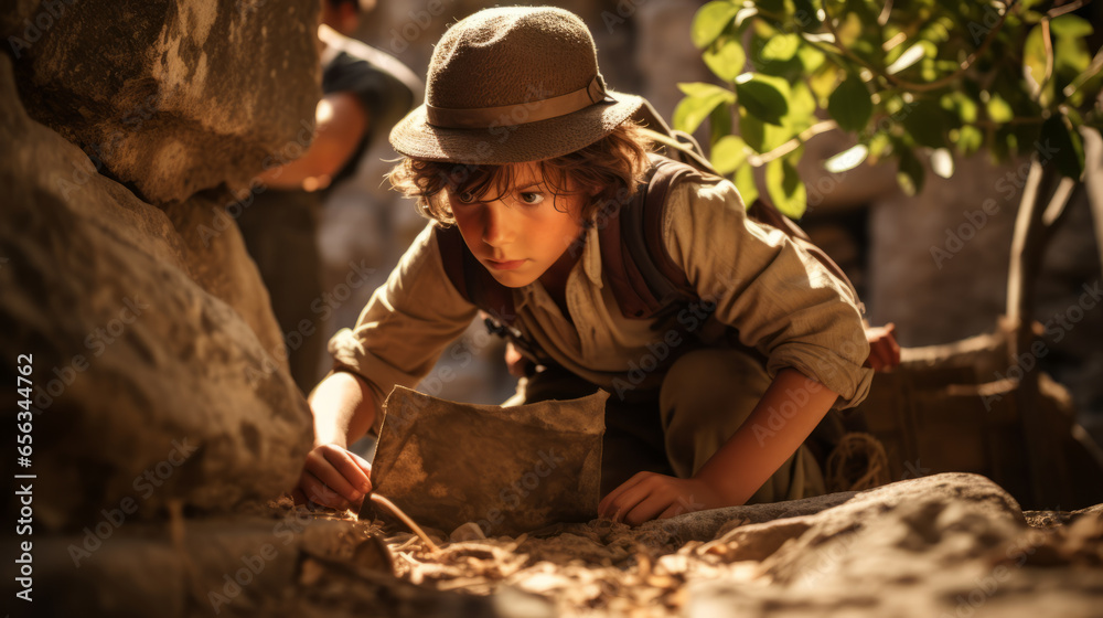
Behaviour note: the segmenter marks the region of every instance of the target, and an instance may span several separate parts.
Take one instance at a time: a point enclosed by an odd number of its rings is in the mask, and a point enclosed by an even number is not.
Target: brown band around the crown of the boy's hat
[[[489,129],[499,126],[525,125],[557,118],[585,109],[595,103],[615,103],[606,94],[601,77],[595,75],[585,87],[557,97],[528,100],[497,107],[454,109],[425,104],[426,120],[442,129]]]

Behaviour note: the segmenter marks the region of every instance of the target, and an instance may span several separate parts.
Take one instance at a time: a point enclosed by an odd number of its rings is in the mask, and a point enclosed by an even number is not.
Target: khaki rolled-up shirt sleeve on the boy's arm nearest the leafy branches
[[[872,371],[857,299],[818,260],[773,227],[747,217],[728,181],[671,190],[667,251],[715,318],[768,359],[771,377],[793,367],[839,394],[838,409],[861,403]]]

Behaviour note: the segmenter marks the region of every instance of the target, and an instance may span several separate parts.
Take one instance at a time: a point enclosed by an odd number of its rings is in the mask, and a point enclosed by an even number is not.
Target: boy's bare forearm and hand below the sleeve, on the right
[[[678,479],[640,472],[611,491],[598,513],[639,525],[656,516],[742,504],[796,451],[837,397],[801,372],[783,369],[747,420],[696,475]],[[803,406],[801,399],[806,399]],[[774,417],[786,402],[795,413],[775,428]]]

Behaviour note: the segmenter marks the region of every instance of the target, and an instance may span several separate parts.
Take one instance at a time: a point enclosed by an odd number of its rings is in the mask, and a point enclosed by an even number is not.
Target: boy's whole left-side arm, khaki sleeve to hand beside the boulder
[[[383,425],[396,384],[414,387],[458,339],[476,309],[448,280],[433,226],[414,241],[352,329],[330,340],[335,371],[311,392],[314,447],[292,496],[347,509],[371,491],[371,466],[347,450]]]

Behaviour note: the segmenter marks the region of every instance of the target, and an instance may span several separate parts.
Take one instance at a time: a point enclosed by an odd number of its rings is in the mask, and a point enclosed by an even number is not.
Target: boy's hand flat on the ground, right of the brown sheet
[[[729,505],[703,480],[639,472],[601,500],[598,515],[640,525],[656,518]]]

